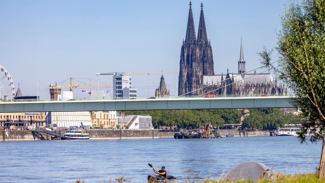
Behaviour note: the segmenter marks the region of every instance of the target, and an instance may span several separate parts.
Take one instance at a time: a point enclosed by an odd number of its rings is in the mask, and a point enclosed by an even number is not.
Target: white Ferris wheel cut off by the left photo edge
[[[9,72],[0,65],[1,72],[5,72],[5,75],[1,77],[0,74],[0,101],[2,100],[12,100],[15,97],[15,87],[14,82],[9,74]]]

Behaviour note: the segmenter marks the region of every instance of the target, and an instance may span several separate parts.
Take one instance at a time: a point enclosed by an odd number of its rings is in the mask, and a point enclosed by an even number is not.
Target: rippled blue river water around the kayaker
[[[233,166],[258,161],[286,174],[315,172],[322,143],[297,137],[114,139],[0,142],[0,182],[147,182],[164,165],[179,182],[217,179]]]

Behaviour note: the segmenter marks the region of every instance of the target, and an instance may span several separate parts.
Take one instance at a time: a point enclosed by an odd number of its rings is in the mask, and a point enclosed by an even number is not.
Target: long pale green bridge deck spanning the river
[[[285,108],[290,96],[0,102],[0,112]]]

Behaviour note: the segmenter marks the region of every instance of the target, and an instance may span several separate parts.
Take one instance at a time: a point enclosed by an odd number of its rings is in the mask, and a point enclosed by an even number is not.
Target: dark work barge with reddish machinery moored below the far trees
[[[232,137],[230,134],[220,133],[220,131],[213,128],[211,124],[206,124],[204,128],[193,129],[188,133],[177,132],[174,134],[174,138],[222,138],[221,135]]]

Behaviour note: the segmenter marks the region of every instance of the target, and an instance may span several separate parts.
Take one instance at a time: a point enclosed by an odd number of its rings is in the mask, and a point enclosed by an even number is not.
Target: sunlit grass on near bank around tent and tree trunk
[[[276,180],[259,180],[256,183],[325,183],[325,180],[319,180],[316,173],[300,175],[277,174]],[[229,183],[228,181],[209,180],[201,183]],[[232,183],[232,182],[231,182]],[[253,183],[253,181],[237,181],[234,183]]]

